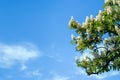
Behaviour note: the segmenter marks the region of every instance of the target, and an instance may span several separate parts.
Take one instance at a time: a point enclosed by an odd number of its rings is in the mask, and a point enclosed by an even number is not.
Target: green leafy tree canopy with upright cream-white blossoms
[[[78,67],[88,75],[120,70],[120,0],[105,0],[103,10],[96,17],[90,15],[85,22],[78,23],[71,17],[71,43],[84,58],[76,58]]]

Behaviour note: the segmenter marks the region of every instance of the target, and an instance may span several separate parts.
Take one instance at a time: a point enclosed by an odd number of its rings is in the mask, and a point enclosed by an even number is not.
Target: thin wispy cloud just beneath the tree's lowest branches
[[[105,73],[102,73],[102,74],[99,74],[99,75],[94,74],[94,75],[88,76],[86,74],[85,70],[80,68],[80,69],[76,70],[76,74],[85,76],[87,78],[95,78],[97,80],[103,80],[103,79],[108,78],[108,77],[119,75],[119,72],[118,71],[110,71],[110,72],[105,72]]]

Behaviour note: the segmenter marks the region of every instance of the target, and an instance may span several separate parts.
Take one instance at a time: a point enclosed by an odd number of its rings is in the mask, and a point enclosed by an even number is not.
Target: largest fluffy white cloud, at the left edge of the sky
[[[32,58],[39,56],[39,50],[30,43],[24,45],[0,44],[0,67],[9,68],[15,63],[24,65]],[[21,69],[25,69],[25,65]]]

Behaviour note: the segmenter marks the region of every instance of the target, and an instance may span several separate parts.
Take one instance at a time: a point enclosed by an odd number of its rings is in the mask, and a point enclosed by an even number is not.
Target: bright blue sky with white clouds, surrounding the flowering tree
[[[102,0],[0,0],[0,80],[119,80],[75,65],[68,22],[103,9]]]

